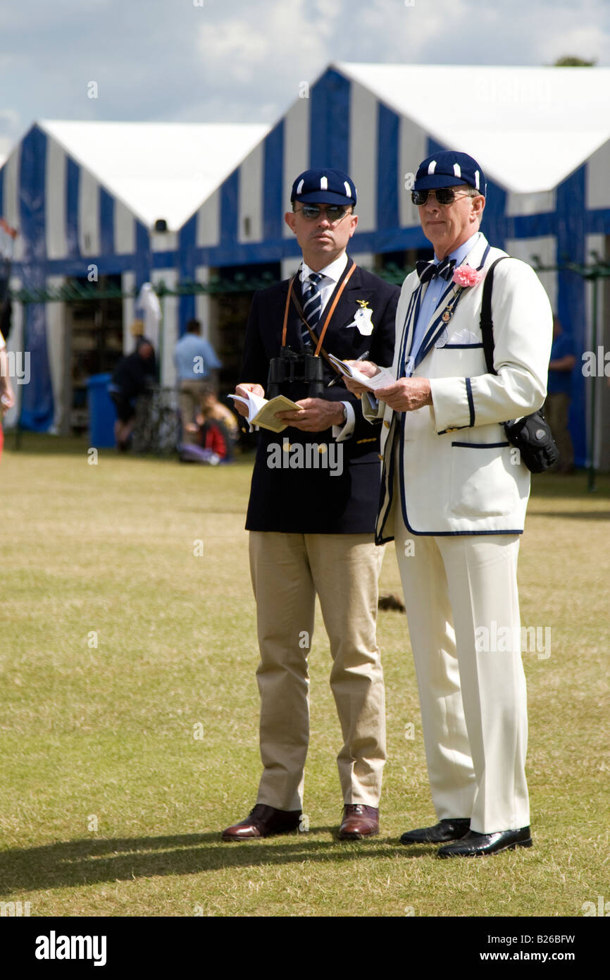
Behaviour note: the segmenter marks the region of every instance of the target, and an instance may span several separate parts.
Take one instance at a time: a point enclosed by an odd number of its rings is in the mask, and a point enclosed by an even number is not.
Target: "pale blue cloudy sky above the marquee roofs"
[[[272,123],[332,61],[609,66],[610,3],[0,0],[0,38],[6,154],[38,119]]]

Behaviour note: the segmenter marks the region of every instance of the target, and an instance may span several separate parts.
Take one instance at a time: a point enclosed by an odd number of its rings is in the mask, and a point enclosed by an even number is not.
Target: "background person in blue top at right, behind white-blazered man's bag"
[[[548,384],[544,417],[559,450],[558,473],[574,472],[574,447],[569,429],[572,401],[572,371],[576,364],[574,344],[564,333],[561,323],[553,316],[553,346],[548,364]]]

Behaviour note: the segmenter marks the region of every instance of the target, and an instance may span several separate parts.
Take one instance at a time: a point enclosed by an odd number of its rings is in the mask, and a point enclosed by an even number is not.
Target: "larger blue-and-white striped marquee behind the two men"
[[[486,171],[483,230],[494,245],[526,262],[538,256],[543,267],[583,264],[592,251],[610,256],[608,105],[610,69],[333,65],[301,84],[284,117],[185,222],[180,276],[270,261],[283,274],[294,270],[297,243],[283,216],[294,178],[308,167],[352,176],[359,221],[351,254],[361,265],[429,251],[409,174],[446,148],[470,153]],[[591,343],[590,287],[568,270],[540,278],[578,357]],[[182,318],[193,315],[194,297],[180,302]],[[581,463],[592,388],[575,368]],[[601,402],[606,389],[596,388]]]

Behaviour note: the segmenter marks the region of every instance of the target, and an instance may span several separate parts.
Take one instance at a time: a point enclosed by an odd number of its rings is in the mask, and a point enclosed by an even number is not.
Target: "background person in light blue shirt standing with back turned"
[[[199,414],[203,396],[209,391],[215,391],[215,372],[222,367],[211,343],[201,336],[201,323],[198,319],[190,319],[186,324],[186,332],[176,343],[173,360],[178,383],[182,441],[190,442],[192,432],[187,426]]]

